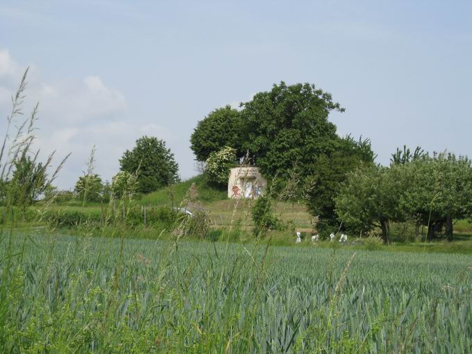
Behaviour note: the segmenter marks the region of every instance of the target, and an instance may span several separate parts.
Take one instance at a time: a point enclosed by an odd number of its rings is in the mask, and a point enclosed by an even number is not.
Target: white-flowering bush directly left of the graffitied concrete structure
[[[226,185],[230,175],[230,169],[236,160],[236,150],[232,147],[225,146],[217,153],[210,153],[210,157],[206,160],[205,177],[208,182],[217,185]]]

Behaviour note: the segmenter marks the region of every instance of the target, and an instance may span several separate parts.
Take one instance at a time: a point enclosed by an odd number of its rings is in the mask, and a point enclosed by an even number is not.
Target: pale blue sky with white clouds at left
[[[274,83],[312,83],[346,112],[339,135],[472,157],[472,1],[0,2],[0,137],[28,72],[39,102],[35,149],[71,153],[56,185],[74,187],[96,146],[110,180],[135,140],[165,140],[181,178],[189,137],[215,108]]]

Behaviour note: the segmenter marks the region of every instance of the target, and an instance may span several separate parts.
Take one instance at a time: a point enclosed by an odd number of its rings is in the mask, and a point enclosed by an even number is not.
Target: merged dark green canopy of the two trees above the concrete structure
[[[317,156],[336,148],[339,137],[328,115],[344,108],[314,85],[280,82],[241,108],[219,108],[199,121],[190,139],[196,160],[229,146],[239,157],[247,152],[267,177],[287,177],[294,166],[308,176]]]

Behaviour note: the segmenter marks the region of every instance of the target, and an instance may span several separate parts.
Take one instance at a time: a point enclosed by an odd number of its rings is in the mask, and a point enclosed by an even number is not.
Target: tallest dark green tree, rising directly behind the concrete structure
[[[338,139],[332,110],[344,111],[329,93],[309,83],[273,85],[243,104],[243,149],[266,176],[289,176],[294,166],[308,176],[319,155]]]

